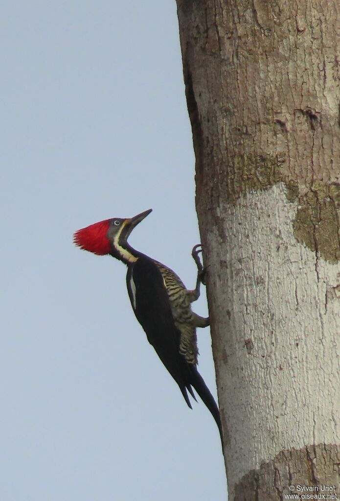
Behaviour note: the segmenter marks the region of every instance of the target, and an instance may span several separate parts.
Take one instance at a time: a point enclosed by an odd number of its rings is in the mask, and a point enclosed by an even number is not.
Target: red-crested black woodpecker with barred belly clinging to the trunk
[[[201,245],[195,245],[192,256],[198,268],[196,288],[188,290],[170,268],[135,250],[128,237],[152,209],[132,218],[106,219],[79,229],[74,243],[99,256],[111,255],[127,265],[127,289],[132,309],[143,327],[149,343],[178,384],[190,408],[187,391],[196,400],[192,387],[216,421],[223,446],[218,406],[197,370],[196,327],[207,327],[209,318],[191,310],[200,295],[204,269],[199,260]]]

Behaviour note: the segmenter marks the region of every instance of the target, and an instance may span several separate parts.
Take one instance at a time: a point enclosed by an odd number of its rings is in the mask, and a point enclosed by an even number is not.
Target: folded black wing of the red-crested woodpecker
[[[161,272],[151,259],[140,257],[128,269],[127,286],[132,308],[149,343],[191,408],[187,394],[187,389],[192,392],[189,368],[179,352],[180,332],[174,324]]]

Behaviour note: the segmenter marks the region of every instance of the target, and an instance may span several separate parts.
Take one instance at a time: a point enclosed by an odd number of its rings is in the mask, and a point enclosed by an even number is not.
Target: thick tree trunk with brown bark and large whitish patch
[[[177,4],[229,499],[340,498],[338,0]]]

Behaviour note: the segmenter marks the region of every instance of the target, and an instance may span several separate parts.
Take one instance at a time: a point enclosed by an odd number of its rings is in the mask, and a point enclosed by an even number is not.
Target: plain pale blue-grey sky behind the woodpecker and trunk
[[[130,243],[195,285],[175,1],[2,0],[0,25],[0,500],[225,501],[216,424],[148,344],[125,266],[72,243],[152,208]]]

